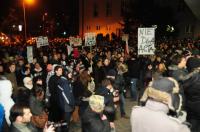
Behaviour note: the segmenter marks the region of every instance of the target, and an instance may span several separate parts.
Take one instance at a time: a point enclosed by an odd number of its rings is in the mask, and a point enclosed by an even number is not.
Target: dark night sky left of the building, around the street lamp
[[[23,0],[1,0],[0,3],[0,25],[1,22],[9,16],[10,9],[15,9],[16,17],[23,21]],[[40,25],[42,25],[43,15],[47,12],[48,18],[56,19],[61,22],[63,21],[60,16],[70,18],[71,23],[77,19],[74,19],[74,14],[78,16],[78,0],[35,0],[33,5],[26,6],[26,20],[27,20],[27,28],[29,31],[38,30]],[[75,12],[75,13],[74,13]],[[60,15],[60,16],[59,16]],[[69,21],[69,19],[68,19]],[[65,22],[66,24],[66,22]],[[68,27],[70,27],[68,25]]]

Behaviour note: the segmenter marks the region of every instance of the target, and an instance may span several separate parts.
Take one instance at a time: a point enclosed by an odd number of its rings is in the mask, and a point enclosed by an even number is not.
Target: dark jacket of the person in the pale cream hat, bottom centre
[[[107,120],[101,120],[101,116],[91,110],[86,109],[82,116],[82,128],[84,132],[110,132],[110,125]]]

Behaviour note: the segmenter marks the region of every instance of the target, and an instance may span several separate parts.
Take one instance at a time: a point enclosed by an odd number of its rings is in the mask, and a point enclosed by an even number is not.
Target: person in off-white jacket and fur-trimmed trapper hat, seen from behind
[[[154,79],[140,101],[145,102],[145,106],[133,107],[130,119],[132,132],[190,132],[181,116],[174,118],[168,115],[170,110],[175,113],[181,110],[179,86],[173,78]]]

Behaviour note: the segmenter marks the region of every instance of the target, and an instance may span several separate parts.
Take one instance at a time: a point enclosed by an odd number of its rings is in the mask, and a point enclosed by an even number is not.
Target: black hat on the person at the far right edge
[[[187,70],[189,72],[193,71],[195,68],[200,67],[200,59],[196,57],[190,57],[186,63]]]

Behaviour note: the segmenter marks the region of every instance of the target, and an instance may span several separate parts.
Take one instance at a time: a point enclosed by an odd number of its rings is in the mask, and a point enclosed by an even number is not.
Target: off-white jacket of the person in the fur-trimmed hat
[[[131,113],[132,132],[190,132],[178,119],[167,115],[169,108],[148,100],[144,107],[135,106]]]

